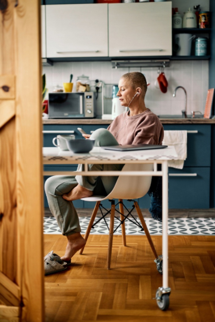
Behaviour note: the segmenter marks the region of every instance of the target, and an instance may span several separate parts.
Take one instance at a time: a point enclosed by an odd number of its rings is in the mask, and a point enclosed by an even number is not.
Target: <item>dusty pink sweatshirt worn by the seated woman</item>
[[[128,116],[128,112],[117,116],[107,128],[116,138],[119,144],[159,144],[163,141],[163,126],[161,121],[146,109],[134,116]]]

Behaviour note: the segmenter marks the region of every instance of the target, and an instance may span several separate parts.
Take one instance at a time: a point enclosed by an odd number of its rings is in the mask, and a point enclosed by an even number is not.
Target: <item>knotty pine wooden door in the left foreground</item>
[[[44,321],[40,5],[0,0],[0,299],[19,321],[38,322]]]

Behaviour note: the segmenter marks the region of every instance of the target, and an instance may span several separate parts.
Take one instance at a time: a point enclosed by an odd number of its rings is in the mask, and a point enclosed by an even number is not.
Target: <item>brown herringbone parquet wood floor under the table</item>
[[[152,236],[161,254],[161,236]],[[45,254],[63,255],[66,238],[44,235]],[[169,236],[170,307],[155,296],[162,286],[145,236],[113,237],[111,270],[106,269],[108,236],[91,235],[83,255],[61,273],[45,277],[46,322],[215,321],[215,236]]]

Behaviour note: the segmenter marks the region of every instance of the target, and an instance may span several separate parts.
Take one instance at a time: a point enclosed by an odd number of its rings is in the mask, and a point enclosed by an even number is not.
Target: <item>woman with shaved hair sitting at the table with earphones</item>
[[[159,118],[145,106],[146,91],[146,79],[141,72],[124,74],[119,81],[117,96],[121,105],[125,109],[128,107],[129,111],[116,117],[107,130],[98,129],[92,135],[83,136],[86,139],[95,139],[95,146],[140,143],[161,145],[163,127]],[[122,167],[123,165],[90,165],[89,170],[122,170]],[[77,171],[81,170],[82,165],[79,165]],[[85,245],[72,201],[92,196],[99,185],[97,178],[97,176],[56,175],[50,177],[45,183],[50,210],[68,240],[65,254],[61,257],[65,262],[70,262],[71,257]],[[101,176],[101,179],[106,194],[109,194],[117,177]]]

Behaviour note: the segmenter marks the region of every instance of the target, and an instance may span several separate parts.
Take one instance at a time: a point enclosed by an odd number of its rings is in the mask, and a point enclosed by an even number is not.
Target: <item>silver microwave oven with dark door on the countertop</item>
[[[49,118],[93,118],[95,94],[93,92],[49,93]]]

